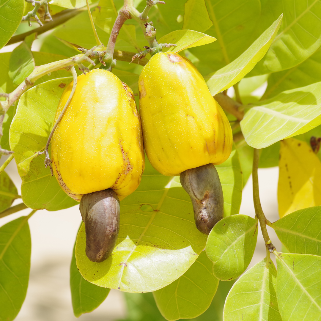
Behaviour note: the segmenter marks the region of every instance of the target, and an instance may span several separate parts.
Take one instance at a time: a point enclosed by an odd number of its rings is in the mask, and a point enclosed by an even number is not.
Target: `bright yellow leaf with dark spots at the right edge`
[[[306,142],[294,138],[281,141],[279,167],[280,217],[321,205],[321,162]]]

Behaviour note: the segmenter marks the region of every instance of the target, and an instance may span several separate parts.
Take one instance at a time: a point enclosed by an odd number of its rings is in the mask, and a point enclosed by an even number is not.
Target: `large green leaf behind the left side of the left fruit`
[[[71,80],[72,77],[49,80],[26,91],[10,127],[10,147],[22,177],[22,200],[33,209],[57,211],[78,204],[45,168],[44,155],[37,156],[46,146],[60,96]]]

